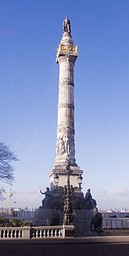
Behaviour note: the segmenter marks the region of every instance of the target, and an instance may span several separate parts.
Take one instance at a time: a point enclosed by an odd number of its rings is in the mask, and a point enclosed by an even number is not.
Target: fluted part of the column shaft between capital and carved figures
[[[58,132],[60,128],[72,128],[74,130],[74,109],[74,64],[60,63],[58,87]]]

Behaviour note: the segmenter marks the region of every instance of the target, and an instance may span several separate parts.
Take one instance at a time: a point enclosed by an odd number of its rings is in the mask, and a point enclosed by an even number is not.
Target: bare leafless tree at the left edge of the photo
[[[0,181],[12,185],[14,181],[14,166],[11,165],[12,161],[18,161],[18,157],[14,152],[10,151],[10,147],[0,142]],[[0,200],[3,199],[2,194],[5,189],[0,188]]]

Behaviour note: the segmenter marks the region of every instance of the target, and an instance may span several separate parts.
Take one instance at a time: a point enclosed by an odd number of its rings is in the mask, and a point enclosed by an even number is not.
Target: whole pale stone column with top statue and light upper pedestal
[[[71,36],[71,22],[65,18],[63,22],[62,40],[57,51],[56,62],[59,64],[58,84],[58,128],[56,157],[50,173],[50,188],[67,184],[67,162],[71,166],[71,185],[80,187],[83,171],[75,162],[75,105],[74,105],[74,66],[78,57],[77,47]]]

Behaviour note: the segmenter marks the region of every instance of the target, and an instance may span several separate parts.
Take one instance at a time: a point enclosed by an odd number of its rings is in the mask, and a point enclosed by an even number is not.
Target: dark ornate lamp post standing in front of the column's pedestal
[[[73,192],[73,187],[70,185],[70,176],[72,170],[70,169],[70,161],[67,161],[67,185],[64,186],[64,217],[63,217],[63,225],[71,225],[72,224],[72,207],[71,207],[71,194]]]

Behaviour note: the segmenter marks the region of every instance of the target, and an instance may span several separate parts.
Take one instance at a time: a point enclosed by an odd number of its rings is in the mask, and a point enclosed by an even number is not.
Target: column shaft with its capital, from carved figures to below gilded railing
[[[55,163],[65,165],[68,159],[75,166],[74,65],[77,54],[58,52],[58,128]]]

